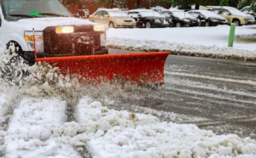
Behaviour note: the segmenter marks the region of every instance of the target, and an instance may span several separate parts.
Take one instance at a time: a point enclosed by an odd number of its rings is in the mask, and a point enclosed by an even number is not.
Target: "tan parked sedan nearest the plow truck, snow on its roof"
[[[100,24],[108,24],[110,28],[136,27],[136,21],[128,14],[111,8],[100,8],[89,16],[89,20]]]

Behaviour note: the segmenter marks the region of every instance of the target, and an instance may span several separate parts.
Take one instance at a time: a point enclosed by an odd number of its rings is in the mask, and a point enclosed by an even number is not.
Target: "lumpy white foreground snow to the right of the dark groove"
[[[76,114],[79,123],[96,133],[88,143],[95,157],[256,155],[253,139],[233,134],[218,136],[195,125],[160,122],[150,115],[109,110],[88,98],[80,100]]]

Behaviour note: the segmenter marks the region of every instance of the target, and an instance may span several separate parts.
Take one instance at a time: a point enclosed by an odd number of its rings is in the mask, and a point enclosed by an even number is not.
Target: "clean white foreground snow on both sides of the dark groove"
[[[155,116],[110,110],[84,97],[75,121],[66,122],[67,103],[58,98],[24,97],[4,137],[6,157],[250,157],[256,141],[216,135],[195,125],[161,122]]]

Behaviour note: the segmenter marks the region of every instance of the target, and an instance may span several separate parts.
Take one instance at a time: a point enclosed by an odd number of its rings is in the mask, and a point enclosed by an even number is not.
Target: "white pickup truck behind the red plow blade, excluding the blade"
[[[38,58],[108,54],[108,27],[74,18],[57,0],[4,0],[0,15],[1,49],[15,46],[29,63],[35,48]]]

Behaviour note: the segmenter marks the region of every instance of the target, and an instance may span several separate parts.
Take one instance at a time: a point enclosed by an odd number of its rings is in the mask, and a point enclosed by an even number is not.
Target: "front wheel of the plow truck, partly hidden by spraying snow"
[[[20,86],[24,77],[29,74],[26,69],[27,62],[22,58],[22,49],[17,42],[9,42],[4,54],[5,61],[0,66],[1,77],[11,85]]]

